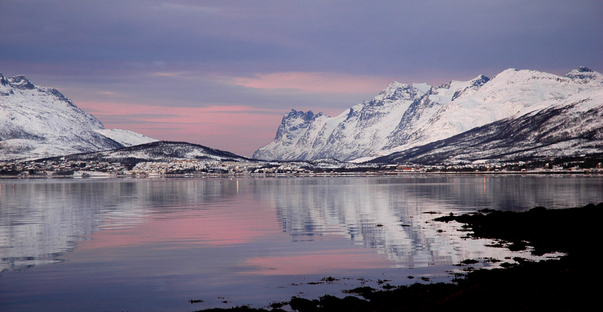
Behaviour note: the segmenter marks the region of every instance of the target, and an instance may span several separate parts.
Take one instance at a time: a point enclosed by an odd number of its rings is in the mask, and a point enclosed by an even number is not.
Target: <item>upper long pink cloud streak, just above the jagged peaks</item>
[[[378,92],[390,82],[384,77],[324,72],[277,72],[233,79],[234,84],[255,89],[297,89],[320,93]]]

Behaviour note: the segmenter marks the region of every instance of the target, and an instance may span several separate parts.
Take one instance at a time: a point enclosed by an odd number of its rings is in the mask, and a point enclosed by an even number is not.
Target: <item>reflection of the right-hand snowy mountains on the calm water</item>
[[[483,242],[463,240],[450,225],[432,222],[435,213],[568,208],[597,203],[603,195],[602,180],[588,177],[266,179],[254,186],[253,194],[275,206],[294,242],[348,236],[399,267],[453,264],[485,253]]]

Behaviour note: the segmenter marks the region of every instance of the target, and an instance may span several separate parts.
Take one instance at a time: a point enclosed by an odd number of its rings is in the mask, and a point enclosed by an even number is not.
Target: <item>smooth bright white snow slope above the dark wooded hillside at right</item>
[[[601,84],[596,79],[587,81],[533,70],[507,69],[475,91],[458,94],[443,105],[428,122],[414,130],[414,140],[394,145],[412,143],[416,146],[442,140],[504,118],[567,104],[580,97],[580,92]],[[397,150],[404,150],[404,145]]]

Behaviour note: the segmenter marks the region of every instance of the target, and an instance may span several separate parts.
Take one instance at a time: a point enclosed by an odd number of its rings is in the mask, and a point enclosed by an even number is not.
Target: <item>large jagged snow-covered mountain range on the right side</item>
[[[507,69],[438,87],[392,82],[330,117],[292,110],[261,160],[462,163],[603,152],[603,74]]]

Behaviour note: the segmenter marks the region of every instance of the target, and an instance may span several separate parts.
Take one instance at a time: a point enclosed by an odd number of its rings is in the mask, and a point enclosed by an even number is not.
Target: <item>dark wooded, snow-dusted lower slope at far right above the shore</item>
[[[463,164],[603,154],[603,92],[473,128],[372,162]]]

